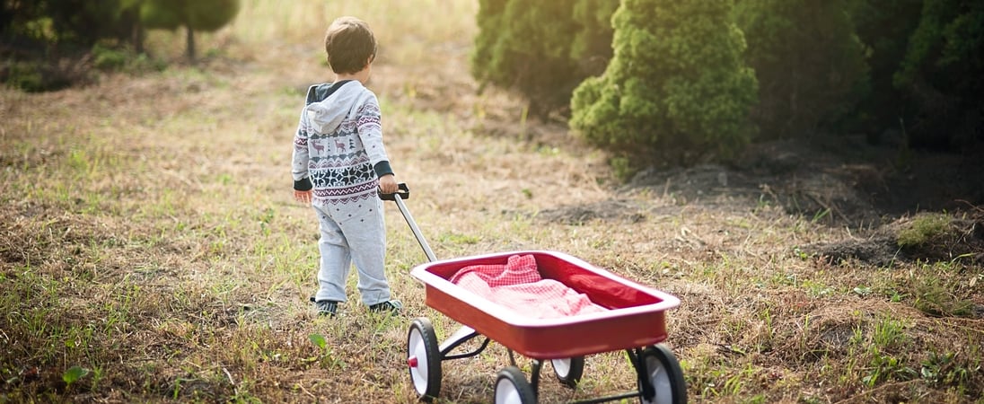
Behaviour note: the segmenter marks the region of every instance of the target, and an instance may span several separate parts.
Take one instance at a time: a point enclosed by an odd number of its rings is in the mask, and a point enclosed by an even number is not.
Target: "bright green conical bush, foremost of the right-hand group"
[[[614,56],[575,90],[571,127],[636,165],[657,150],[673,163],[739,151],[754,134],[748,113],[757,84],[731,9],[721,0],[623,1],[613,17]]]

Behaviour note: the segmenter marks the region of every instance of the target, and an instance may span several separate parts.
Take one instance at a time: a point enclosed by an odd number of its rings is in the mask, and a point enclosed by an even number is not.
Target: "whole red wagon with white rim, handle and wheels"
[[[461,328],[439,343],[427,317],[415,318],[407,334],[407,367],[413,387],[423,401],[437,398],[441,390],[441,363],[480,354],[490,341],[505,346],[511,364],[496,378],[494,402],[535,403],[539,374],[549,361],[564,385],[576,387],[584,373],[584,357],[624,350],[637,375],[638,391],[596,398],[599,403],[639,397],[642,403],[685,403],[687,387],[673,353],[661,345],[667,338],[665,312],[680,300],[664,292],[620,277],[563,253],[523,251],[489,254],[453,260],[436,260],[413,222],[402,199],[405,188],[391,197],[427,254],[429,263],[410,274],[425,285],[428,307],[461,323]],[[530,317],[506,308],[453,283],[462,269],[474,265],[505,265],[511,257],[531,256],[543,279],[559,281],[584,294],[602,311],[570,317]],[[473,338],[484,338],[478,348],[456,353]],[[530,378],[517,367],[513,353],[532,360]]]

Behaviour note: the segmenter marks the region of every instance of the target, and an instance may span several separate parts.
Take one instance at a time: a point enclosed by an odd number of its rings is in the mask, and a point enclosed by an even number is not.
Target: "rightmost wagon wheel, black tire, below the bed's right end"
[[[648,377],[655,389],[652,397],[645,397],[643,380],[639,380],[639,401],[643,404],[684,404],[687,402],[687,382],[683,379],[683,369],[673,352],[663,345],[646,348],[640,357],[643,365],[641,375]]]

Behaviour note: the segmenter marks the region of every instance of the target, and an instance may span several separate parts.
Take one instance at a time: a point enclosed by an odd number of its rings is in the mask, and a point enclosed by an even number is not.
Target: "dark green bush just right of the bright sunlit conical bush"
[[[735,21],[759,80],[753,116],[762,140],[830,127],[867,92],[864,46],[851,0],[742,0]]]

